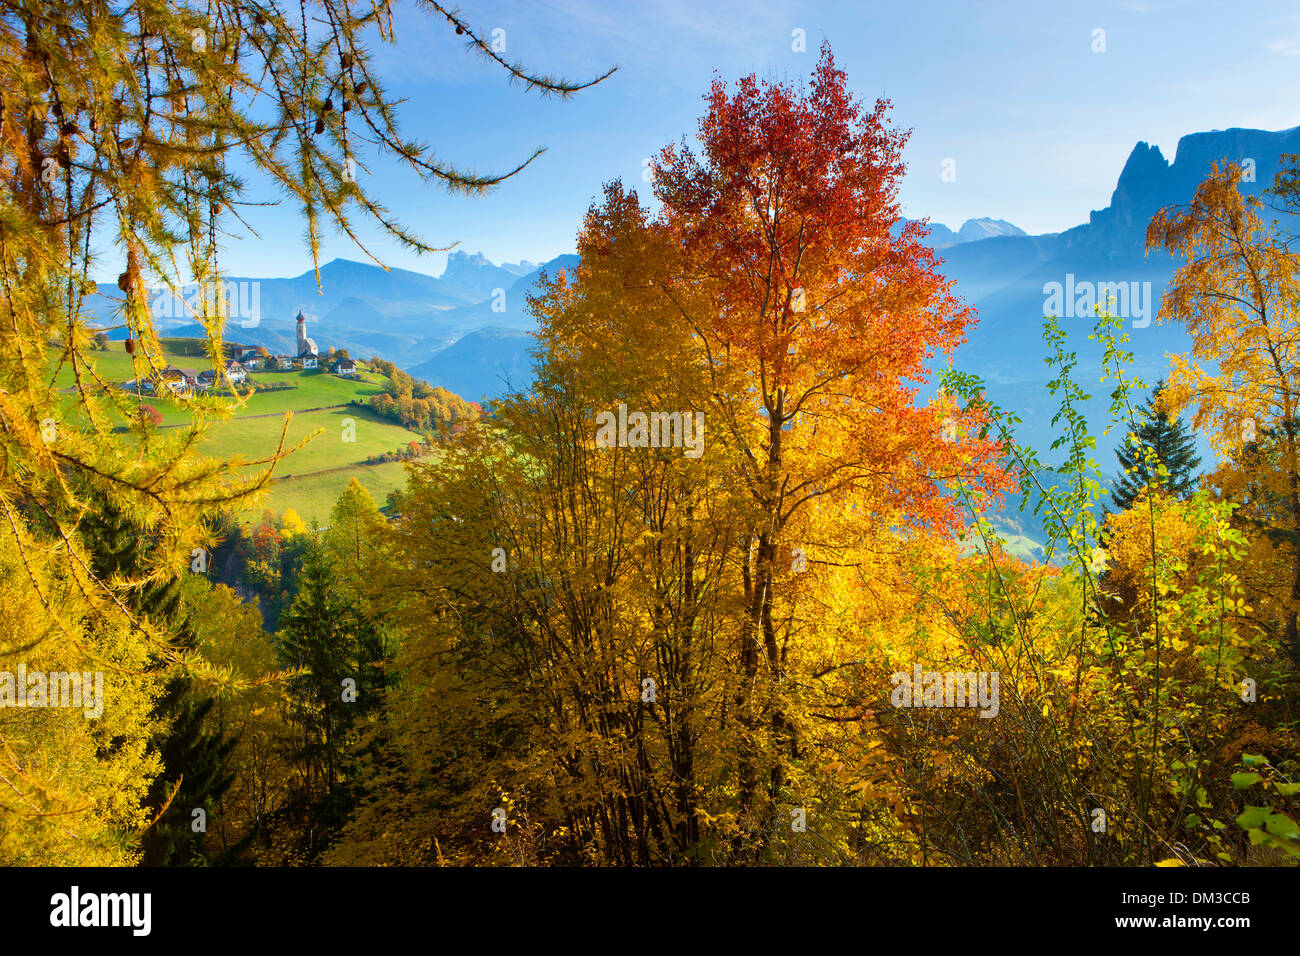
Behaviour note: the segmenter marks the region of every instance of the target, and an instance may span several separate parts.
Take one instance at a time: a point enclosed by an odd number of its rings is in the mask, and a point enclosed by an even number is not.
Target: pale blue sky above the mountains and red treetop
[[[537,72],[586,79],[619,72],[569,100],[541,99],[467,53],[462,38],[399,0],[399,42],[376,42],[403,129],[439,157],[477,172],[547,152],[482,198],[448,196],[391,164],[363,183],[438,246],[494,261],[546,260],[573,248],[601,185],[641,183],[642,160],[693,137],[716,72],[733,79],[801,79],[829,40],[852,88],[894,104],[913,130],[904,153],[904,212],[957,228],[976,216],[1030,233],[1058,232],[1102,208],[1138,140],[1173,160],[1179,137],[1231,126],[1300,124],[1300,10],[1295,0],[1070,3],[905,0],[749,3],[711,0],[515,0],[467,3],[482,35],[506,31],[506,56]],[[1093,31],[1105,30],[1105,52]],[[803,30],[806,52],[792,49]],[[956,182],[942,161],[956,160]],[[277,198],[252,179],[248,199]],[[646,186],[647,189],[647,186]],[[231,239],[234,276],[309,268],[296,209],[257,209],[261,239]],[[364,229],[386,264],[439,274],[446,254],[417,256]],[[321,261],[365,260],[330,234]]]

